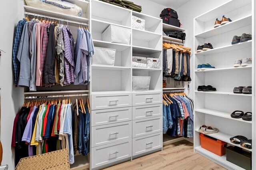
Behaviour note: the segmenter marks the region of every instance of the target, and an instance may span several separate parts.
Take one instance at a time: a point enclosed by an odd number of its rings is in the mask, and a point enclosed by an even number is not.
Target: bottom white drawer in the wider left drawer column
[[[132,139],[92,148],[92,168],[132,156]]]

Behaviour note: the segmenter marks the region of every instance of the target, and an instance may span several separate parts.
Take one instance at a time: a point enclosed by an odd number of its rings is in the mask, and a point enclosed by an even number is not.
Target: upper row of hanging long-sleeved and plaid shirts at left
[[[36,91],[36,86],[88,85],[94,54],[92,35],[80,26],[77,32],[74,47],[72,32],[63,23],[20,20],[12,50],[15,86]]]

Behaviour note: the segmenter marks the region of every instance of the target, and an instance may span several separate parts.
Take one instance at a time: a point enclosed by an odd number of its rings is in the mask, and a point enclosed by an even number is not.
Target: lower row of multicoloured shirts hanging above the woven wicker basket
[[[25,102],[14,119],[12,147],[15,147],[15,165],[21,158],[69,149],[70,164],[76,151],[89,152],[90,107],[82,99],[75,106],[70,99]],[[74,109],[76,108],[76,109]]]

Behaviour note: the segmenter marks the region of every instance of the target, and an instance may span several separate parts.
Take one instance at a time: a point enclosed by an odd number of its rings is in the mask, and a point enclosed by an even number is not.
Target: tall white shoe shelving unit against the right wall
[[[214,28],[216,18],[221,20],[222,15],[231,18],[232,22]],[[236,59],[241,58],[252,57],[254,61],[252,51],[254,39],[231,45],[233,36],[241,36],[242,33],[252,34],[252,25],[251,0],[230,0],[194,18],[194,51],[198,44],[210,42],[214,47],[214,49],[194,54],[194,150],[228,169],[242,168],[228,162],[226,155],[217,156],[202,148],[198,128],[202,125],[216,127],[219,132],[209,136],[238,147],[241,146],[232,144],[230,137],[242,135],[252,139],[254,136],[252,135],[254,121],[230,117],[230,114],[236,110],[253,111],[252,95],[235,94],[233,88],[252,85],[252,91],[254,91],[254,74],[252,73],[254,65],[235,68],[233,64]],[[196,66],[203,63],[211,63],[216,69],[197,71]],[[197,91],[199,85],[212,85],[217,91]],[[252,148],[254,150],[254,146]],[[250,149],[243,149],[254,153]],[[253,156],[252,169],[255,168],[254,161]]]

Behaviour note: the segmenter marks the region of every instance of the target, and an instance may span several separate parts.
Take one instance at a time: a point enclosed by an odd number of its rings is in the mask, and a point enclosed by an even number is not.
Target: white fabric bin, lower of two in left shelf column
[[[95,47],[92,64],[112,65],[115,63],[116,49]]]

